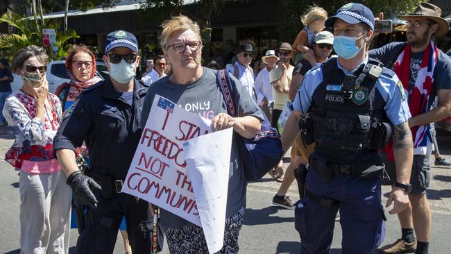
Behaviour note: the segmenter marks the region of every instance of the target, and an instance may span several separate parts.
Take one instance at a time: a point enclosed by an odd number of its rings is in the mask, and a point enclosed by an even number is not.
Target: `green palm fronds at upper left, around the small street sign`
[[[0,33],[0,48],[2,48],[3,57],[11,60],[15,52],[22,49],[24,46],[38,45],[42,46],[42,28],[33,18],[22,17],[11,12],[6,12],[0,17],[0,23],[6,22],[8,26],[15,30],[15,33]],[[71,39],[78,38],[75,31],[67,31],[63,33],[60,31],[60,24],[58,22],[49,22],[45,20],[45,28],[53,28],[56,30],[56,46],[58,53],[52,53],[49,47],[46,48],[51,60],[59,60],[63,56],[67,56],[67,52],[71,44],[68,42]]]

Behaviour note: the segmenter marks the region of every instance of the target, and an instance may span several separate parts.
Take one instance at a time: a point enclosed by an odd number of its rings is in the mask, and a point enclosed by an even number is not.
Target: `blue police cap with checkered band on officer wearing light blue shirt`
[[[332,17],[328,17],[325,26],[332,27],[336,19],[341,19],[348,24],[358,24],[363,22],[374,30],[373,12],[361,3],[346,3]]]

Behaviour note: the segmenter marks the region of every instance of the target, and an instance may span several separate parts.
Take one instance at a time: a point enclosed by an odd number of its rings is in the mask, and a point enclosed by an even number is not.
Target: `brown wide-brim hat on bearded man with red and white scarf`
[[[432,3],[420,3],[413,13],[409,15],[398,15],[400,19],[409,17],[425,17],[439,24],[439,29],[435,32],[435,36],[444,35],[450,30],[450,24],[441,16],[441,8],[434,6]]]

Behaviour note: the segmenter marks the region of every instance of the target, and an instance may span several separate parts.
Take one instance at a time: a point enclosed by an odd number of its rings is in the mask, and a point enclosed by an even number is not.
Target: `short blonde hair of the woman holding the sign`
[[[194,33],[196,33],[199,40],[201,40],[201,29],[199,28],[199,25],[184,15],[165,20],[163,24],[161,24],[161,27],[163,28],[163,32],[160,37],[160,44],[164,51],[167,51],[167,47],[169,46],[169,37],[179,33],[180,31],[187,31],[191,29]]]

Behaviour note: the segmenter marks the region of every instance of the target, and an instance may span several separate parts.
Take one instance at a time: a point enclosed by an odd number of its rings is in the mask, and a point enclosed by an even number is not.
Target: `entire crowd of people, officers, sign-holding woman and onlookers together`
[[[450,165],[440,156],[433,123],[451,115],[451,59],[433,39],[450,25],[431,3],[400,18],[407,22],[407,42],[379,49],[368,50],[377,19],[361,3],[332,16],[309,8],[296,40],[266,51],[253,67],[253,45],[240,44],[236,61],[226,66],[237,117],[228,115],[217,83],[221,65],[201,65],[199,26],[183,15],[162,24],[162,54],[145,61],[141,78],[135,76],[137,39],[127,31],[106,37],[105,80],[96,76],[92,51],[74,46],[65,58],[70,82],[56,94],[48,91],[42,47],[15,54],[12,71],[23,85],[12,94],[6,85],[12,74],[1,60],[0,124],[15,135],[5,160],[20,171],[21,252],[68,253],[76,217],[77,253],[112,253],[118,230],[126,253],[157,253],[163,235],[170,253],[208,253],[201,227],[121,192],[160,95],[182,108],[207,103],[212,130],[235,131],[218,253],[239,251],[247,185],[239,139],[253,139],[265,120],[280,129],[284,153],[291,147],[287,169],[281,158],[269,174],[281,183],[272,204],[294,210],[301,253],[330,251],[338,212],[343,253],[377,250],[385,237],[382,183],[392,186],[386,207],[394,204],[389,214],[398,214],[402,235],[379,252],[428,253],[430,155],[435,164]],[[300,200],[293,203],[287,192],[295,178]],[[82,205],[81,216],[71,215],[74,201]]]

